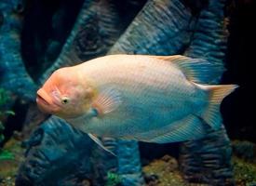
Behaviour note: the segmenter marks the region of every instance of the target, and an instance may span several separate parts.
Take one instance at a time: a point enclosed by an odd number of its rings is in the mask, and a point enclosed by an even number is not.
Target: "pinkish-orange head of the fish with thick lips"
[[[44,113],[74,118],[87,113],[93,89],[82,81],[73,67],[61,68],[37,91],[36,103]]]

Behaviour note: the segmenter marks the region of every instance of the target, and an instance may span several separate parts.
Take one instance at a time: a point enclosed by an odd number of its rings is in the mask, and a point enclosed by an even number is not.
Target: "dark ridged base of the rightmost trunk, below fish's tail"
[[[210,185],[233,185],[232,148],[224,127],[202,140],[182,143],[180,152],[184,179]]]

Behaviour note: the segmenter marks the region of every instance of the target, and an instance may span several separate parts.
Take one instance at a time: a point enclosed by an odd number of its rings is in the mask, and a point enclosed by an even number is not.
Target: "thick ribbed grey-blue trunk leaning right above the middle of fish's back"
[[[181,53],[190,42],[194,25],[195,18],[181,1],[149,1],[109,53]]]

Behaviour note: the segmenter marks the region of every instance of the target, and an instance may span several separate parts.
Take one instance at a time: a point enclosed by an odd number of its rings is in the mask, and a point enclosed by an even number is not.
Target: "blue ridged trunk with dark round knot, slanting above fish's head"
[[[142,3],[143,1],[135,4],[129,16],[122,16],[119,15],[115,1],[86,0],[59,58],[46,73],[43,73],[40,83],[42,84],[49,74],[63,66],[74,65],[106,54],[126,29],[129,20],[139,11]]]

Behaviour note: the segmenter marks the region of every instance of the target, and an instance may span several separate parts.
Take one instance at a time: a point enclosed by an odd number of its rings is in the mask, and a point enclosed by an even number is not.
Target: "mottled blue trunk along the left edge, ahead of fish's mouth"
[[[22,18],[19,15],[20,1],[2,1],[3,24],[0,27],[0,86],[25,100],[34,100],[36,86],[26,72],[20,55]]]

